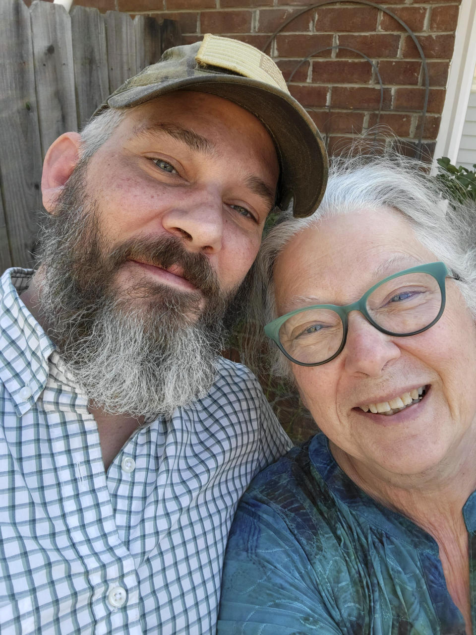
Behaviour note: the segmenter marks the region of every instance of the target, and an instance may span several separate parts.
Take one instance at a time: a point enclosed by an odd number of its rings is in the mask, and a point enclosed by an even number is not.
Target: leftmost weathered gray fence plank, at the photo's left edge
[[[11,263],[29,265],[41,208],[41,147],[30,12],[22,0],[0,2],[0,172]]]

